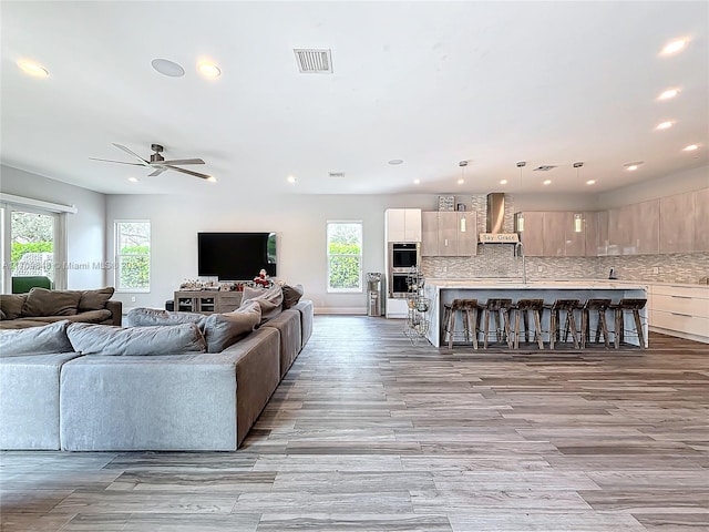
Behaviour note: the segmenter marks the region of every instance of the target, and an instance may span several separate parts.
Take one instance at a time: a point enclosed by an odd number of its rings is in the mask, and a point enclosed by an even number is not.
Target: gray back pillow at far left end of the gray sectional
[[[0,357],[71,352],[74,349],[66,336],[69,321],[55,321],[29,329],[0,330]]]

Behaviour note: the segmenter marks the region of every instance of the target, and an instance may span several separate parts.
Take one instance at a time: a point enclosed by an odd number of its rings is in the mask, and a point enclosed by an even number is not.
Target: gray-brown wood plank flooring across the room
[[[709,346],[412,345],[317,316],[237,452],[3,452],[2,531],[709,531]]]

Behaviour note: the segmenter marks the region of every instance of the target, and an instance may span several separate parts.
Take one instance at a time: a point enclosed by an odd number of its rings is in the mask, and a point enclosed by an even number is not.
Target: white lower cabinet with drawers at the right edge
[[[709,287],[650,285],[650,327],[709,344]]]

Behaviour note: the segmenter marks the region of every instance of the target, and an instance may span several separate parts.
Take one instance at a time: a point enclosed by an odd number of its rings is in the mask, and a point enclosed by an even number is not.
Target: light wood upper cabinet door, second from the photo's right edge
[[[693,192],[660,198],[660,253],[693,250],[695,198]]]

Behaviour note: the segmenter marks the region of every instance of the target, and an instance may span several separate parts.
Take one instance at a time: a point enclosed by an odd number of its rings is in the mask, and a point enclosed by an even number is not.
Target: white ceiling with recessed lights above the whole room
[[[103,193],[602,192],[709,163],[706,1],[0,9],[2,163]],[[686,50],[660,55],[679,37]],[[296,48],[330,49],[333,73],[299,73]],[[22,73],[21,58],[49,78]],[[158,74],[155,58],[185,75]],[[202,78],[202,59],[222,76]],[[668,88],[679,95],[658,101]],[[666,120],[675,126],[655,131]],[[89,158],[130,162],[112,143],[145,158],[152,143],[166,158],[202,157],[188,167],[218,182]],[[625,171],[633,161],[645,164]],[[558,167],[533,171],[543,164]]]

